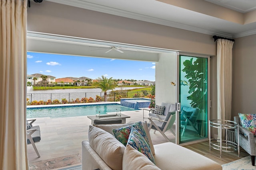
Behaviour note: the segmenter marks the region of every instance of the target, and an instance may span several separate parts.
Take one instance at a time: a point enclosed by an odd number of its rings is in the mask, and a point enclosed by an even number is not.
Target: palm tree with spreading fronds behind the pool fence
[[[104,102],[107,102],[107,91],[113,90],[116,87],[116,82],[112,80],[112,77],[106,78],[105,76],[101,76],[96,80],[97,82],[94,82],[94,86],[104,92]]]

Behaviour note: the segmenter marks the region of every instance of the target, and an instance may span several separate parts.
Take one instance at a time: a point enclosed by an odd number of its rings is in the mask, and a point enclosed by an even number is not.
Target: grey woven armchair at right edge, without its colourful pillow
[[[248,154],[251,155],[252,166],[255,166],[256,137],[254,137],[254,134],[252,132],[242,127],[239,116],[235,116],[234,121],[239,125],[239,134],[237,134],[237,131],[235,131],[236,142],[239,136],[240,147],[242,147],[246,152],[248,152]]]

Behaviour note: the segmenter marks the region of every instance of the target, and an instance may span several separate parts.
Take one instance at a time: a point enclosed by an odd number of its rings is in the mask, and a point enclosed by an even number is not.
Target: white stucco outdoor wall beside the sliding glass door
[[[156,62],[156,104],[176,103],[176,53],[161,53]]]

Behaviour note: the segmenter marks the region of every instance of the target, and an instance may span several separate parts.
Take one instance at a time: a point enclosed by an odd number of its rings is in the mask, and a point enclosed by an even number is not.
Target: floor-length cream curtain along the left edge
[[[26,144],[27,0],[0,1],[0,170],[29,170]]]

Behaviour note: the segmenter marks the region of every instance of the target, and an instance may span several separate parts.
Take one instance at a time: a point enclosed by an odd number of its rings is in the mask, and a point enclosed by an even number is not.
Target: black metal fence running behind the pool
[[[118,102],[120,98],[151,97],[151,91],[107,92],[108,102]],[[89,103],[104,101],[104,92],[82,93],[32,93],[27,94],[27,105]]]

